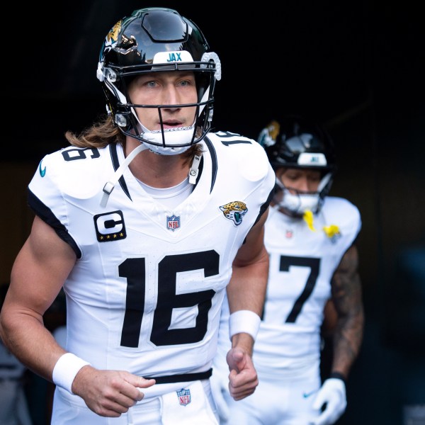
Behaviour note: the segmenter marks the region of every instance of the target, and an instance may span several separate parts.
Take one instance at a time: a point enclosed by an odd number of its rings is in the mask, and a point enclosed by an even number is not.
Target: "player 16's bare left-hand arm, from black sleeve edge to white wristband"
[[[16,257],[1,309],[1,337],[23,364],[47,380],[64,350],[43,323],[43,315],[60,292],[75,263],[72,248],[55,230],[35,217]]]

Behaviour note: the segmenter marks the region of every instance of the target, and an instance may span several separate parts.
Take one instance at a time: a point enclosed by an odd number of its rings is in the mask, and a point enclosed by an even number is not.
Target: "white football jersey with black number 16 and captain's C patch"
[[[196,187],[172,210],[129,169],[101,207],[125,159],[120,145],[48,154],[30,181],[31,208],[77,254],[64,283],[67,351],[96,368],[141,376],[210,368],[232,261],[276,179],[254,140],[217,132],[202,144]]]

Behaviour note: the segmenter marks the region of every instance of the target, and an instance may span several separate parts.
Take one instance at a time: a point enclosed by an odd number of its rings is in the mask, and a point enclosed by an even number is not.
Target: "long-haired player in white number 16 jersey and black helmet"
[[[263,148],[211,132],[220,59],[169,8],[113,26],[98,61],[107,114],[47,154],[11,273],[1,336],[56,385],[52,424],[217,424],[210,391],[227,290],[231,394],[258,379],[263,225],[276,176]],[[64,289],[67,344],[42,316]]]

